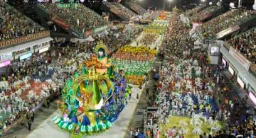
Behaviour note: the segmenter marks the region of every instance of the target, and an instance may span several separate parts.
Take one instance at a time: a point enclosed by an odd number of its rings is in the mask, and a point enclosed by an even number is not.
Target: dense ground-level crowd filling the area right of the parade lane
[[[179,37],[166,37],[166,49],[169,50],[165,54],[168,56],[164,57],[165,62],[161,64],[160,81],[153,90],[156,93],[149,97],[148,102],[149,106],[160,108],[147,116],[145,134],[149,134],[148,137],[159,137],[160,130],[164,137],[184,137],[188,129],[186,125],[167,128],[164,132],[161,129],[166,128],[159,126],[171,123],[169,117],[172,115],[193,118],[198,114],[203,116],[204,123],[220,120],[226,126],[212,126],[215,130],[208,134],[201,132],[199,137],[255,137],[256,124],[251,120],[250,111],[245,108],[248,97],[239,99],[233,94],[229,85],[232,82],[223,76],[222,66],[210,67],[203,60],[206,54],[200,52],[203,58],[197,58],[193,52],[188,52],[193,48],[186,45],[193,45],[193,41],[188,41],[188,30],[181,28],[182,25],[178,24],[182,23],[178,22],[176,16],[171,17],[169,34],[175,33]]]

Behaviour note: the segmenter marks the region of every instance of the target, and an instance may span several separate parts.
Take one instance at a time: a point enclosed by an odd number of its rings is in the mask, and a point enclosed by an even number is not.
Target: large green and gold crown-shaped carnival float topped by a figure
[[[127,86],[122,71],[115,72],[107,57],[107,47],[100,42],[91,58],[83,62],[65,82],[61,115],[53,122],[71,137],[82,137],[112,127],[124,106],[131,88]]]

